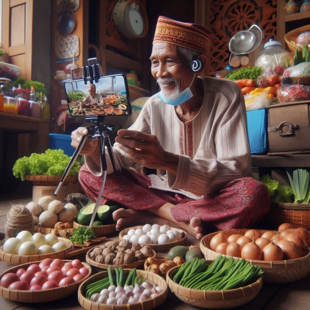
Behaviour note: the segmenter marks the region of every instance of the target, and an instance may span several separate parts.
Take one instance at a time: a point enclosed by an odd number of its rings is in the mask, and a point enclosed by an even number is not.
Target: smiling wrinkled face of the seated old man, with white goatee
[[[166,100],[174,99],[194,78],[188,60],[178,54],[177,47],[173,44],[154,43],[151,63],[151,73]]]

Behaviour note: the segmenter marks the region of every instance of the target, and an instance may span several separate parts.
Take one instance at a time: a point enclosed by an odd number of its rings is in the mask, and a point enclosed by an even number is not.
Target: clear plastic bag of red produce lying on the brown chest
[[[277,89],[280,103],[310,100],[310,85],[285,84]]]

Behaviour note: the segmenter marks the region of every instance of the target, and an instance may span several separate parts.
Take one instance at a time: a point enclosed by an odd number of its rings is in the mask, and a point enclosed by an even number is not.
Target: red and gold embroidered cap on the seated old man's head
[[[211,31],[201,25],[182,23],[159,16],[153,44],[165,42],[208,55]]]

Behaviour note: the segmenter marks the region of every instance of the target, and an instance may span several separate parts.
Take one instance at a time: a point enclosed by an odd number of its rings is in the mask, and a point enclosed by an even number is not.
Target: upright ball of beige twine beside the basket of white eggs
[[[11,209],[7,213],[7,222],[5,223],[5,239],[16,237],[17,233],[27,230],[34,233],[32,214],[23,205],[12,204]]]

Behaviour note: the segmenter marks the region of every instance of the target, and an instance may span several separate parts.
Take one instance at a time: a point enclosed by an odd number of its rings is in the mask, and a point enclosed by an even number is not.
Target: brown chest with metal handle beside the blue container
[[[268,107],[269,153],[310,151],[310,101]]]

